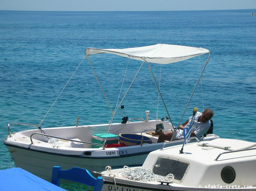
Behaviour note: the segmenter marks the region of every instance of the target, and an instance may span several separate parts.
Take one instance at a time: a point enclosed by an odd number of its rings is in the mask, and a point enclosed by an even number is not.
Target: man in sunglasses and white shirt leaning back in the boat
[[[195,115],[195,122],[194,127],[192,129],[190,137],[196,136],[201,137],[203,134],[205,134],[208,129],[210,128],[210,119],[213,117],[214,113],[209,108],[206,108],[203,113],[196,112]],[[187,119],[182,125],[179,125],[176,133],[172,139],[173,131],[163,132],[159,135],[158,143],[164,142],[164,141],[170,141],[172,140],[178,140],[178,139],[184,139],[184,127],[191,121],[192,116]]]

